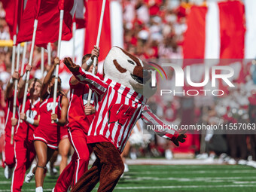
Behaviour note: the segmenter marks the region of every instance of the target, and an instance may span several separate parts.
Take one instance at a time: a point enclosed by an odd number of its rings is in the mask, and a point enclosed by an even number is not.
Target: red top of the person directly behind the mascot
[[[87,105],[89,86],[87,84],[75,84],[70,85],[70,101],[68,109],[68,121],[67,126],[69,127],[79,127],[84,133],[88,133],[90,124],[93,121],[94,114],[86,115],[84,114],[84,106]],[[90,105],[94,106],[94,93],[92,94],[92,99],[90,100]]]

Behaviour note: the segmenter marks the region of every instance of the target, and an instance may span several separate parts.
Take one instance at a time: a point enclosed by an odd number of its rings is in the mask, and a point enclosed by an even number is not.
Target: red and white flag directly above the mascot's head
[[[99,18],[102,9],[101,0],[90,0],[87,2],[88,23],[90,26],[85,32],[84,54],[90,53],[96,44],[99,29]],[[102,25],[102,34],[99,41],[99,62],[105,59],[112,46],[123,47],[123,13],[120,2],[106,1],[105,13]],[[102,63],[99,63],[98,71],[102,73]]]

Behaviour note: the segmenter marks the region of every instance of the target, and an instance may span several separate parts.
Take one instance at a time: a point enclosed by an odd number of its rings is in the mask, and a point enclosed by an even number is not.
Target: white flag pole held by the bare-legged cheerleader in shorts
[[[57,56],[60,56],[60,44],[61,44],[61,36],[62,36],[62,24],[63,24],[63,15],[64,11],[60,10],[59,17],[59,40],[58,40],[58,52]],[[55,82],[54,82],[54,92],[53,92],[53,114],[55,114],[55,106],[56,106],[56,97],[57,97],[57,87],[58,87],[58,78],[59,78],[59,65],[56,66],[55,69]],[[54,123],[52,120],[51,123]]]

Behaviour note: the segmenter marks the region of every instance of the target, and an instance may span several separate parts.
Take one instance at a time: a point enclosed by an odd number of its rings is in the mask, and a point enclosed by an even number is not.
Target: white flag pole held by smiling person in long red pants
[[[34,31],[33,31],[33,36],[32,36],[32,45],[31,45],[31,50],[30,50],[30,55],[29,55],[29,66],[32,66],[33,51],[34,51],[34,47],[35,47],[35,35],[36,35],[37,28],[38,28],[38,20],[35,20]],[[24,113],[24,111],[25,111],[26,93],[28,92],[28,88],[29,88],[29,75],[30,75],[30,72],[27,72],[26,84],[25,84],[25,90],[24,90],[24,96],[23,96],[23,108],[21,109],[22,113]],[[20,120],[20,122],[22,123],[22,120]]]

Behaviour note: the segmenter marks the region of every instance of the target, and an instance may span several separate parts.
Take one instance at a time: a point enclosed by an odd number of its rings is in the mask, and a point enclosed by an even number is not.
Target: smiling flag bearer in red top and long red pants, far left
[[[24,86],[18,93],[18,98],[22,101]],[[35,148],[33,145],[33,133],[38,126],[38,109],[40,105],[41,81],[33,78],[29,80],[29,89],[26,97],[25,111],[21,112],[23,104],[20,104],[20,119],[15,134],[14,153],[16,164],[11,182],[11,191],[21,191],[26,170],[35,158]]]

